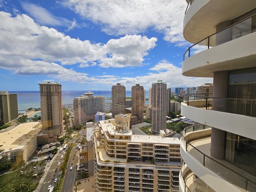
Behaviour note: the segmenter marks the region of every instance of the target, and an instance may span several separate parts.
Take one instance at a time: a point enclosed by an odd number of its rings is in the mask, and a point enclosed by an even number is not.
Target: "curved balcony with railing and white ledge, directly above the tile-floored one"
[[[213,107],[215,111],[211,110]],[[198,123],[256,140],[255,99],[212,98],[185,94],[181,109],[184,116]]]

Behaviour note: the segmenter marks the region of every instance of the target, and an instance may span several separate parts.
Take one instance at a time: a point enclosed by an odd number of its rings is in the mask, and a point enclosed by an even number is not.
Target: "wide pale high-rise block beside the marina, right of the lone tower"
[[[98,111],[105,113],[105,97],[93,96],[93,94],[88,91],[73,99],[74,126],[95,119],[95,114]]]

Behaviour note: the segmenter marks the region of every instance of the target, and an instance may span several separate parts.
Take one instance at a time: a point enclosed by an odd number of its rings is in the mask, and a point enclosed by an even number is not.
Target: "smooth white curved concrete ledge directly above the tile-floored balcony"
[[[190,101],[189,103],[196,102]],[[184,116],[198,123],[256,140],[256,117],[200,109],[187,106],[186,103],[182,103],[181,111]]]

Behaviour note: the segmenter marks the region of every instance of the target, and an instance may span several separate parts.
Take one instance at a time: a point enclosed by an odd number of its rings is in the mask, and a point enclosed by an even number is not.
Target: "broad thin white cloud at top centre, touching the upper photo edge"
[[[101,24],[102,30],[111,35],[143,33],[152,28],[163,33],[166,41],[186,44],[182,36],[185,0],[64,0],[62,4]]]

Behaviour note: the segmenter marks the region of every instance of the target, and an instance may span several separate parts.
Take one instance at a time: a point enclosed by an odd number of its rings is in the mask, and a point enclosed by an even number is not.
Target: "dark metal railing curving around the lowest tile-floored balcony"
[[[195,128],[193,128],[193,127],[195,127]],[[204,154],[202,151],[198,150],[195,146],[190,144],[189,141],[187,141],[187,139],[186,139],[187,133],[194,132],[197,130],[204,131],[204,129],[207,129],[208,127],[209,126],[200,124],[200,125],[186,127],[184,129],[184,131],[182,131],[182,142],[186,146],[186,151],[187,151],[188,146],[191,146],[193,148],[192,149],[193,151],[189,150],[187,152],[190,155],[192,155],[193,157],[195,157],[195,159],[197,159],[197,161],[200,162],[204,167],[208,168],[209,170],[211,170],[213,172],[216,172],[216,170],[215,170],[216,167],[221,167],[220,169],[223,170],[224,174],[218,173],[218,175],[220,177],[222,177],[224,180],[228,181],[229,183],[231,183],[235,186],[241,187],[244,190],[247,190],[247,189],[249,189],[249,191],[255,190],[256,183],[254,181],[248,179],[244,175],[241,175],[240,173],[236,172],[235,170],[230,169],[229,167],[225,166],[221,162],[218,162],[215,159],[209,157],[208,155]],[[239,178],[239,182],[232,180],[233,179],[232,174],[235,174],[235,177]],[[234,182],[236,182],[236,183],[234,183]]]

